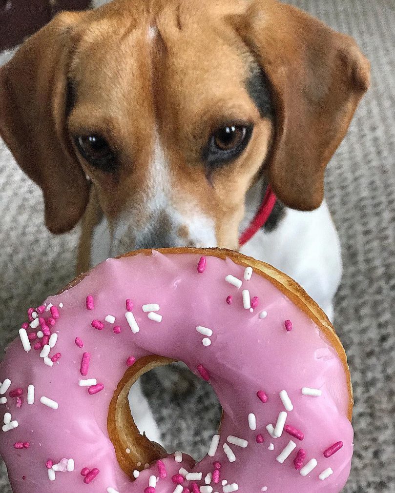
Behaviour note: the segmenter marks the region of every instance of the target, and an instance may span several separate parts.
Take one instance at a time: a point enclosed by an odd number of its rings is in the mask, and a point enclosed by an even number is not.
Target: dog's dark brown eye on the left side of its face
[[[115,155],[108,142],[99,135],[84,135],[75,138],[82,157],[92,166],[103,171],[111,171],[115,165]]]

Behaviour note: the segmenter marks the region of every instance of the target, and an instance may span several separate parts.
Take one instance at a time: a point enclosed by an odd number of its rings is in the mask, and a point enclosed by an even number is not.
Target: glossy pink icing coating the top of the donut
[[[196,254],[164,256],[156,251],[151,256],[107,260],[75,287],[46,300],[46,305],[52,303],[55,307],[51,314],[56,318],[53,331],[58,333],[49,357],[60,351],[62,364],[43,364],[38,352],[24,351],[19,338],[9,346],[0,364],[0,382],[9,378],[13,387],[27,390],[29,385],[35,386],[33,405],[17,409],[9,399],[1,406],[19,423],[15,429],[0,431],[0,453],[14,493],[106,492],[108,488],[119,493],[141,493],[149,487],[149,477],[158,475],[157,463],[133,481],[120,469],[107,433],[109,403],[130,354],[136,360],[148,354],[181,359],[197,375],[198,367],[204,369],[224,409],[215,456],[206,456],[196,465],[186,454],[181,463],[174,456],[164,458],[167,476],[159,479],[156,493],[174,491],[171,478],[179,474],[180,467],[202,472],[201,481],[183,483],[185,491],[195,491],[195,483],[203,486],[207,473],[213,472],[213,461],[221,463],[221,481],[236,483],[241,493],[260,492],[263,486],[269,493],[342,490],[350,472],[353,429],[346,417],[347,381],[337,353],[316,324],[271,282],[256,273],[248,282],[250,291],[259,295],[260,309],[268,313],[260,319],[259,311],[243,309],[241,289],[230,288],[225,282],[228,274],[243,279],[244,267],[230,259],[207,256],[207,268],[201,275],[197,272],[198,261]],[[226,303],[230,289],[232,306]],[[137,333],[130,330],[125,318],[125,299],[130,293],[140,328]],[[86,310],[88,294],[95,300],[92,311]],[[61,312],[56,308],[60,303]],[[146,303],[159,304],[160,323],[143,312],[141,307]],[[104,319],[109,313],[121,325],[120,334],[107,326],[102,331],[92,329],[92,315]],[[291,332],[284,330],[287,319],[292,320]],[[207,347],[196,330],[198,325],[213,331]],[[75,343],[78,337],[83,339],[84,350],[91,353],[88,374],[83,378],[95,378],[104,386],[93,395],[86,387],[79,387],[82,351]],[[322,395],[302,395],[302,387],[318,388]],[[264,405],[264,399],[257,398],[262,388],[267,396]],[[266,430],[269,423],[276,425],[278,414],[284,411],[279,397],[283,389],[293,404],[286,424],[303,429],[306,460],[318,461],[306,477],[293,463],[299,447],[282,464],[276,461],[292,437],[283,431],[279,438],[272,438]],[[41,404],[41,396],[58,403],[58,409]],[[248,425],[250,413],[256,416],[255,431]],[[264,444],[257,443],[257,433],[264,436]],[[245,448],[230,444],[236,456],[232,463],[223,450],[229,435],[248,441]],[[23,437],[29,437],[30,447],[24,451],[22,462],[14,443]],[[343,447],[324,458],[328,444],[340,440]],[[268,443],[273,443],[275,450],[269,450],[265,445]],[[56,472],[56,479],[49,481],[45,467],[48,457],[54,463],[73,458],[74,470]],[[319,480],[318,475],[328,467],[333,474]],[[95,473],[100,470],[100,474],[84,485],[79,472],[82,468]],[[222,492],[222,485],[215,486],[214,491]]]

